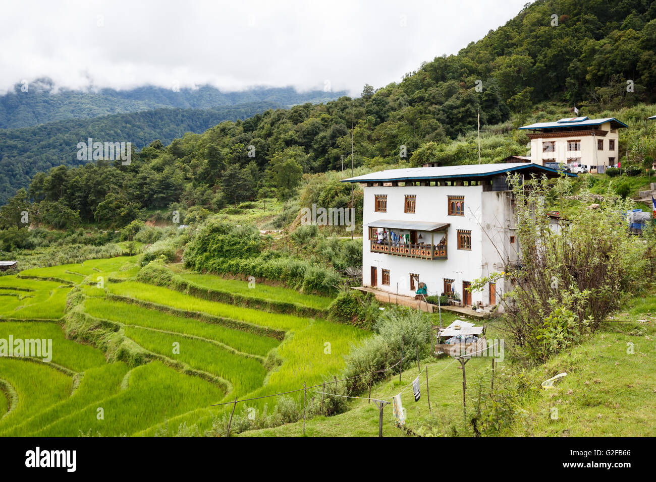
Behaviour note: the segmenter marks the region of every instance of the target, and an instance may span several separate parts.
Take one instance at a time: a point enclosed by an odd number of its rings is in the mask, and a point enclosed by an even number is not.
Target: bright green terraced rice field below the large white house
[[[51,363],[0,358],[0,436],[154,435],[165,424],[177,428],[182,422],[197,424],[202,433],[213,415],[226,410],[210,405],[319,383],[337,374],[350,345],[367,336],[323,319],[139,283],[137,271],[136,259],[123,256],[0,277],[0,338],[52,340]],[[262,300],[293,300],[321,310],[330,301],[181,274],[197,285]],[[72,290],[83,299],[75,310],[145,353],[144,364],[129,366],[116,357],[108,363],[98,348],[66,338],[72,322],[64,310]],[[251,406],[261,409],[264,403],[271,407],[275,399]]]

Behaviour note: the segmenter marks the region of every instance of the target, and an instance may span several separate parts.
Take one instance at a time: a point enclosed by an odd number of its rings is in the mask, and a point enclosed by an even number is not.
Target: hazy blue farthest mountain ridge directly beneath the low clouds
[[[0,96],[0,129],[30,127],[66,119],[87,119],[116,113],[159,108],[209,109],[246,102],[276,102],[290,107],[304,102],[326,102],[346,92],[310,90],[297,92],[293,87],[276,87],[221,92],[211,85],[198,89],[145,86],[129,90],[57,89],[51,79],[36,79]]]

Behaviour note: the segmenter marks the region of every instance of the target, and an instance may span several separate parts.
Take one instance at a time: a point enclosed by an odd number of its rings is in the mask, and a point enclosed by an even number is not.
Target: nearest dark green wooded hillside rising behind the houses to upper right
[[[422,64],[400,83],[378,90],[367,85],[354,100],[224,121],[166,148],[154,144],[130,166],[103,161],[57,167],[35,176],[5,212],[29,207],[68,213],[63,226],[95,221],[119,227],[148,209],[215,210],[258,193],[286,199],[295,195],[302,173],[338,169],[342,155],[350,164],[352,117],[356,166],[478,162],[459,146],[476,130],[479,111],[483,131],[501,133],[486,158],[499,161],[525,153],[527,138],[514,127],[528,119],[563,117],[574,102],[582,115],[653,102],[655,52],[656,3],[537,1],[459,54]],[[636,106],[623,121],[635,127],[646,123],[646,113]],[[640,129],[626,131],[643,135]],[[627,142],[620,138],[621,151],[630,147]],[[319,187],[316,196],[329,197],[332,206],[348,202],[341,195],[348,188],[338,182]],[[0,227],[12,225],[1,218]]]

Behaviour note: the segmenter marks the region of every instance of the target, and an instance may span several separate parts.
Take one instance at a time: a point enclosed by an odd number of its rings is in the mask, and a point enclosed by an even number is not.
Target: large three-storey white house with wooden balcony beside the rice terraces
[[[508,174],[558,176],[533,163],[415,167],[345,179],[364,190],[362,281],[392,294],[458,293],[464,305],[497,304],[512,289],[474,279],[518,260],[514,196]],[[571,174],[570,174],[571,175]]]

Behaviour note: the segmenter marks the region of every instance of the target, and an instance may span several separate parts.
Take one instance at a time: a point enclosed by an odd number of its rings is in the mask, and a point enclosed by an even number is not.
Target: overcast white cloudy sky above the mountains
[[[359,94],[456,53],[526,1],[7,1],[0,92],[51,77],[76,89],[209,83]]]

